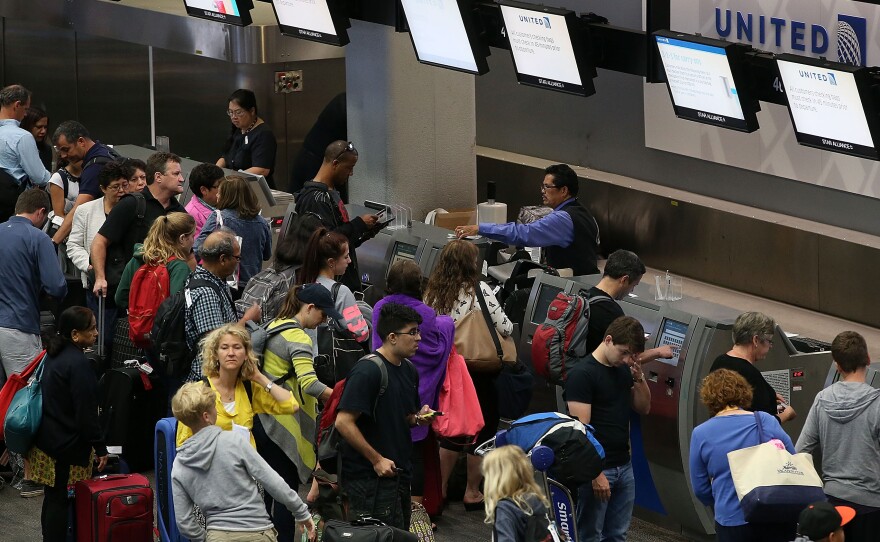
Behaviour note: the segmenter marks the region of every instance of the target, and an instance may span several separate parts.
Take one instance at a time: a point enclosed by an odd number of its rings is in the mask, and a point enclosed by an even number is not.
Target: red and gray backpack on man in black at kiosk
[[[544,323],[532,337],[532,366],[552,384],[562,384],[572,363],[587,355],[590,305],[613,301],[606,295],[587,298],[584,294],[556,294]]]

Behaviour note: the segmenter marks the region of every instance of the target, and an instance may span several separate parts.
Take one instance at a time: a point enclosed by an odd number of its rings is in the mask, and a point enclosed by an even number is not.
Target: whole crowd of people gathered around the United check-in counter
[[[106,465],[96,375],[84,351],[97,340],[112,351],[130,338],[127,326],[134,322],[125,311],[143,297],[141,283],[134,280],[143,266],[167,272],[168,289],[162,295],[185,290],[187,297],[188,375],[166,383],[180,421],[172,479],[184,536],[201,540],[224,531],[251,532],[264,537],[254,539],[292,541],[295,525],[314,535],[316,526],[295,490],[311,482],[309,500],[320,504],[315,437],[321,405],[332,390],[317,377],[315,329],[328,318],[361,344],[364,354],[374,354],[372,362],[355,364],[347,375],[335,422],[343,438],[341,472],[325,480],[345,495],[349,516],[370,515],[409,528],[412,511],[419,510],[428,493],[438,491],[445,502],[450,474],[464,451],[465,510],[484,511],[496,540],[527,540],[527,533],[534,532],[530,520],[543,514],[548,503],[521,452],[502,447],[483,459],[473,446],[440,439],[428,427],[437,413],[447,361],[456,355],[456,322],[476,310],[481,296],[495,331],[505,337],[513,330],[491,288],[479,278],[473,244],[448,243],[430,277],[422,277],[412,262],[395,263],[387,277],[389,295],[371,308],[357,299],[355,249],[375,235],[379,223],[376,215],[351,218],[341,204],[338,189],[348,182],[358,159],[350,142],[335,141],[326,148],[320,169],[299,194],[291,235],[276,248],[272,265],[261,270],[272,256],[269,225],[247,182],[224,176],[218,167],[248,169],[250,164],[257,173],[271,173],[254,165],[257,157],[248,162],[242,155],[250,140],[245,136],[257,141],[258,132],[267,131],[252,93],[231,97],[229,147],[217,165],[202,164],[192,171],[194,196],[185,208],[177,200],[183,187],[179,157],[157,152],[146,162],[117,160],[75,121],[61,123],[51,138],[58,157],[67,161],[57,178],[41,170],[32,158],[45,154],[37,145],[38,134],[40,141],[47,137],[45,117],[29,113],[29,102],[29,93],[18,85],[0,91],[0,117],[7,119],[0,120],[0,141],[17,142],[0,147],[0,203],[14,215],[0,224],[0,385],[43,348],[41,297],[67,296],[62,262],[86,291],[83,303],[68,303],[73,306],[60,311],[55,332],[45,338],[44,423],[35,447],[25,458],[13,458],[25,467],[21,494],[45,493],[45,540],[61,540],[66,532],[65,482],[91,476],[93,463],[99,471]],[[27,115],[33,117],[32,133],[18,126]],[[16,153],[19,162],[10,166]],[[260,154],[259,160],[264,158]],[[568,209],[548,224],[562,221],[571,242],[582,242],[578,228],[592,227],[595,221],[577,204],[577,179],[572,181],[569,172],[562,164],[548,168],[542,194],[556,211]],[[47,183],[48,191],[26,188]],[[57,217],[55,227],[41,231],[50,215]],[[509,229],[507,234],[517,235],[516,228]],[[463,227],[459,234],[475,231],[482,233],[482,226]],[[598,232],[589,239],[597,240]],[[564,260],[564,252],[554,254]],[[585,265],[594,267],[595,261]],[[588,294],[601,298],[589,321],[590,354],[575,365],[564,385],[569,412],[595,428],[606,451],[602,473],[592,483],[572,488],[578,497],[581,541],[626,539],[635,496],[630,411],[650,410],[642,366],[673,356],[668,346],[646,351],[644,329],[618,303],[644,273],[644,264],[632,252],[618,250],[608,257],[600,282]],[[102,330],[103,336],[95,317],[99,298],[104,300],[104,320],[119,324]],[[265,344],[261,364],[248,323],[262,324],[269,332],[284,326]],[[694,492],[714,507],[718,540],[792,540],[799,534],[836,541],[842,539],[838,528],[843,523],[851,540],[871,539],[880,532],[880,392],[864,382],[869,363],[864,339],[854,332],[835,339],[832,357],[841,381],[817,396],[795,446],[780,424],[796,413],[781,404],[756,368],[772,348],[774,330],[775,322],[765,315],[741,315],[733,327],[731,350],[719,356],[703,382],[701,398],[712,418],[691,439]],[[145,355],[150,359],[150,352]],[[495,375],[474,372],[470,377],[485,421],[476,435],[482,442],[499,423]],[[757,442],[754,413],[765,434],[789,451],[822,451],[825,491],[837,508],[811,507],[800,527],[795,522],[756,525],[744,520],[726,454]],[[245,438],[235,440],[230,432]],[[441,480],[440,488],[428,487],[434,478]],[[266,490],[268,507],[251,479]],[[247,513],[242,513],[242,503]]]

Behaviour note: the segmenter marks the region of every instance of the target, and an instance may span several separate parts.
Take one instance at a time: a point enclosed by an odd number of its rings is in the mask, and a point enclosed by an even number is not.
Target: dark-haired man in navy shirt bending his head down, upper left
[[[66,120],[59,124],[55,133],[52,134],[52,143],[55,144],[59,158],[70,162],[82,160],[83,168],[79,176],[79,195],[73,202],[73,207],[64,216],[61,227],[52,237],[52,242],[60,245],[70,234],[70,228],[73,226],[73,213],[76,212],[76,208],[104,195],[98,186],[98,175],[104,170],[104,165],[107,162],[119,155],[114,156],[110,147],[100,141],[92,140],[86,127],[75,120]]]

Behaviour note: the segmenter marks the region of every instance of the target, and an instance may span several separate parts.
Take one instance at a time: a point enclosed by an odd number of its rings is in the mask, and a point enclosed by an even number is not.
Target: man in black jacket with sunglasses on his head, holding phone
[[[339,196],[338,189],[345,186],[349,177],[354,174],[357,160],[357,149],[350,141],[339,140],[328,145],[318,174],[296,193],[296,212],[315,213],[321,218],[325,228],[348,238],[351,264],[339,282],[348,286],[350,290],[359,292],[363,287],[355,249],[375,234],[379,217],[366,214],[349,220],[345,203]]]

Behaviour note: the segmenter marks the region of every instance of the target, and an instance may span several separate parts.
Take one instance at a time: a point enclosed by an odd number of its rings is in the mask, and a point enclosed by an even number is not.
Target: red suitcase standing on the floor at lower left
[[[153,489],[145,476],[118,474],[76,483],[78,542],[152,542]]]

